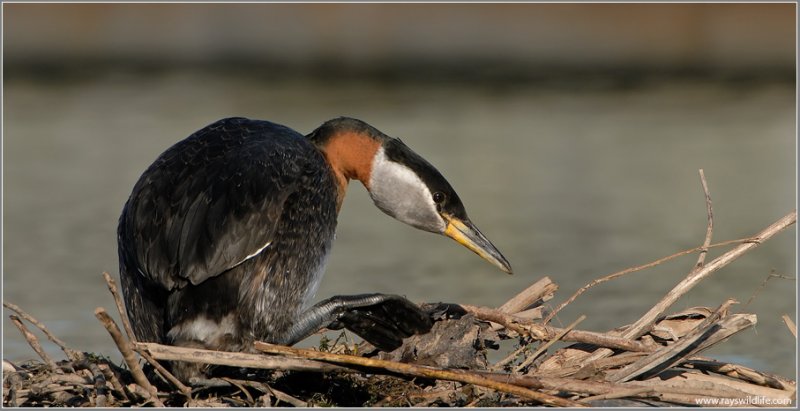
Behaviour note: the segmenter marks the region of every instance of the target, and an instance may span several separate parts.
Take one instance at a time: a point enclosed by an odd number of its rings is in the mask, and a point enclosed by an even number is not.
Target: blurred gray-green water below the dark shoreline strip
[[[700,245],[700,168],[714,201],[716,241],[750,236],[791,211],[794,101],[793,84],[770,81],[673,79],[614,88],[186,71],[11,76],[4,96],[3,298],[73,348],[116,353],[93,310],[115,311],[101,273],[117,275],[117,218],[144,168],[222,117],[269,119],[307,133],[349,115],[401,137],[436,165],[515,274],[393,221],[353,183],[317,299],[392,292],[498,306],[550,276],[560,286],[558,303],[592,279]],[[755,329],[706,354],[795,377],[795,340],[781,315],[796,321],[796,283],[775,278],[761,287],[771,273],[795,277],[795,233],[779,234],[673,307],[715,307],[733,297],[741,302],[735,311],[758,315]],[[588,316],[582,329],[630,323],[695,260],[598,286],[554,324],[581,314]],[[7,318],[3,326],[4,358],[35,357]]]

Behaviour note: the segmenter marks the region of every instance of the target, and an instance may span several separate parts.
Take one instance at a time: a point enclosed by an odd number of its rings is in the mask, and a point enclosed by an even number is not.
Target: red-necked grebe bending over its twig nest
[[[337,296],[314,306],[349,180],[375,205],[444,234],[501,270],[511,266],[470,222],[442,175],[399,139],[337,118],[308,136],[229,118],[161,154],[133,188],[118,227],[120,278],[139,341],[250,351],[322,327],[393,350],[430,318],[403,297]],[[188,379],[196,369],[176,367]]]

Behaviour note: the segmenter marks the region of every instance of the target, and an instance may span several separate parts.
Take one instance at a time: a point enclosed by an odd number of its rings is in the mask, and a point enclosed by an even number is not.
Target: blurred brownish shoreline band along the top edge
[[[3,5],[3,57],[10,72],[771,77],[794,72],[796,12],[788,2],[13,3]]]

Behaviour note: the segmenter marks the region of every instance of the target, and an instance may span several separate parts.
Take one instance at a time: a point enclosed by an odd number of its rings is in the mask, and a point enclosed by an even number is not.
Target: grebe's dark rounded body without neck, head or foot
[[[322,153],[275,123],[224,119],[170,147],[134,186],[118,226],[137,337],[174,343],[183,322],[220,323],[232,312],[224,338],[280,334],[313,296],[307,290],[331,246],[335,199]],[[266,300],[269,287],[286,292]],[[240,304],[250,307],[237,311]]]

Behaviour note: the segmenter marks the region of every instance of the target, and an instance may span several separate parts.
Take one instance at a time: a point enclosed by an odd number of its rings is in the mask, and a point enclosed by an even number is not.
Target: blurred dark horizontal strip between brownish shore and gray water
[[[273,82],[281,79],[307,78],[321,82],[374,83],[437,83],[487,84],[493,86],[541,86],[545,88],[589,88],[615,90],[646,86],[661,82],[711,82],[730,87],[762,86],[767,84],[794,85],[794,68],[709,69],[702,67],[569,67],[530,66],[508,61],[471,62],[469,69],[461,65],[429,62],[414,66],[375,64],[348,67],[320,61],[314,64],[269,64],[228,60],[203,64],[146,61],[140,59],[73,59],[26,61],[6,64],[6,81],[20,79],[46,82],[93,81],[107,75],[169,75],[194,73],[242,77],[254,82]]]

